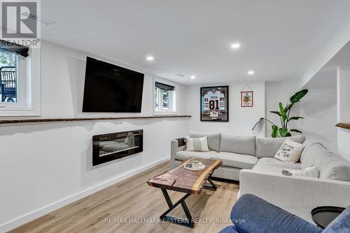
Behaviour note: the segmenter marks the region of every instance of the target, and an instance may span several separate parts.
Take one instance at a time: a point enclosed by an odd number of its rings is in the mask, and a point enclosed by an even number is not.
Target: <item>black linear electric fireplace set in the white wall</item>
[[[92,165],[103,164],[143,150],[144,130],[92,136]]]

